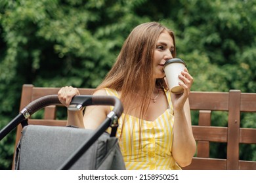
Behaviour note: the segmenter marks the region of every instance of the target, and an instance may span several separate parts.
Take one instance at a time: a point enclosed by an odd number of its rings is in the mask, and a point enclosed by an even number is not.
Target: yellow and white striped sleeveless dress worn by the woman
[[[109,88],[105,88],[105,90],[107,95],[119,98],[116,90]],[[124,113],[119,118],[117,138],[119,138],[119,146],[126,169],[181,169],[171,155],[174,122],[173,105],[171,104],[171,93],[165,91],[165,94],[170,108],[165,110],[156,120],[139,120],[135,116],[125,115]],[[111,110],[113,110],[113,107],[111,107]],[[142,124],[141,136],[140,124]],[[123,131],[121,132],[122,126]]]

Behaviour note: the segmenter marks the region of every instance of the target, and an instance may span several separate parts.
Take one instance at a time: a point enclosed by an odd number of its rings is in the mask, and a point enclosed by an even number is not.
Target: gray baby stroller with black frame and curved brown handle
[[[77,127],[28,125],[28,118],[49,105],[60,105],[58,95],[47,95],[27,105],[0,131],[0,141],[18,124],[22,136],[16,148],[15,169],[125,169],[116,136],[121,101],[112,96],[75,96],[68,110],[83,110],[89,105],[113,105],[96,130]],[[108,127],[111,134],[106,133]]]

